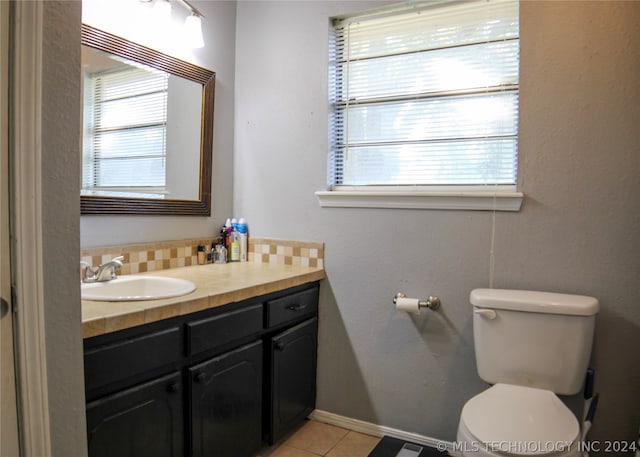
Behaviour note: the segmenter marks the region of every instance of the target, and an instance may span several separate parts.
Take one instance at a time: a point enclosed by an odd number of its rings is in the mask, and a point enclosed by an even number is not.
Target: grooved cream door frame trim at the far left
[[[51,456],[42,246],[42,1],[12,1],[12,282],[22,455]]]

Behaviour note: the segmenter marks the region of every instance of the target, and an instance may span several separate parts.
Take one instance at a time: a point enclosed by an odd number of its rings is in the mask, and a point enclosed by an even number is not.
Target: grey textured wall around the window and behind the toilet
[[[468,296],[489,212],[320,208],[328,17],[380,2],[238,3],[234,210],[252,233],[326,242],[318,408],[455,439],[475,370]],[[640,3],[523,2],[519,187],[496,216],[495,287],[601,300],[593,439],[640,425]],[[437,294],[433,315],[397,291]]]

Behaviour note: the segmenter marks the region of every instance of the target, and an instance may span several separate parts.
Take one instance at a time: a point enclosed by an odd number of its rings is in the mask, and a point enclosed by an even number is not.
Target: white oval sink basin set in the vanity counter
[[[196,290],[186,279],[166,276],[120,276],[106,282],[82,284],[83,300],[134,301],[179,297]]]

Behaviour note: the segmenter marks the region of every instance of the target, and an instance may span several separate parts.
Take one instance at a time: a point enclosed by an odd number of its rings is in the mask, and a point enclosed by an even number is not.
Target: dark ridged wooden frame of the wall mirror
[[[82,24],[82,44],[202,84],[198,200],[80,196],[80,214],[210,216],[215,72]]]

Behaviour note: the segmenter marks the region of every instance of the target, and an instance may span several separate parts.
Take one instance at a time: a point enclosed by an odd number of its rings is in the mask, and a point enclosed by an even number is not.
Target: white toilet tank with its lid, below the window
[[[475,289],[470,301],[482,379],[565,395],[580,391],[591,355],[597,299]]]

